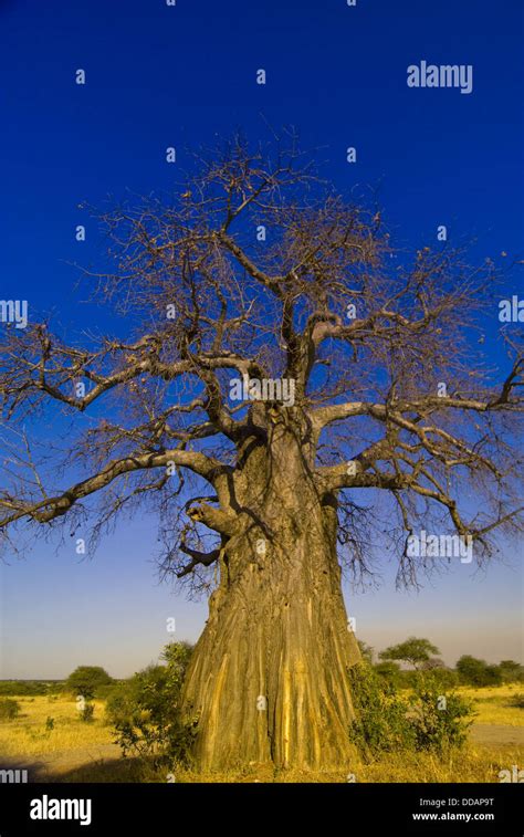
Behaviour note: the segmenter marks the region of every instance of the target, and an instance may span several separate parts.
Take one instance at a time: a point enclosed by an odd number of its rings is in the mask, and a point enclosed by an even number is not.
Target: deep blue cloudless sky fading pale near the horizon
[[[55,312],[69,335],[103,327],[67,262],[99,260],[104,242],[81,201],[169,189],[185,149],[241,128],[270,138],[293,125],[340,188],[379,189],[402,243],[476,237],[473,255],[522,258],[524,94],[520,0],[0,0],[2,247],[0,297]],[[410,90],[407,67],[472,64],[473,92]],[[74,83],[86,72],[86,85]],[[256,70],[266,71],[265,86]],[[165,161],[167,146],[178,161]],[[356,165],[346,163],[357,148]],[[87,223],[87,242],[74,230]],[[515,287],[509,285],[509,293]],[[206,606],[156,586],[147,521],[106,541],[93,562],[36,544],[0,569],[0,677],[60,677],[81,662],[130,673],[156,658],[176,616],[195,639]],[[462,652],[518,657],[522,575],[461,565],[418,595],[349,599],[377,647],[429,635]]]

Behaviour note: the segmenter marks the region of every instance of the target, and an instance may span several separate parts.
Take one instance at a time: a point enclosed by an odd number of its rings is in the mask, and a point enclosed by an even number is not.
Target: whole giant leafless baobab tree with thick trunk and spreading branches
[[[99,218],[114,266],[87,281],[126,336],[4,326],[4,546],[158,511],[163,572],[210,594],[184,692],[201,770],[346,765],[343,567],[389,548],[410,584],[453,559],[418,556],[420,527],[482,561],[522,523],[518,341],[495,363],[483,332],[500,272],[395,248],[293,140],[233,138],[169,201]],[[49,447],[39,464],[52,407],[73,422],[60,469]]]

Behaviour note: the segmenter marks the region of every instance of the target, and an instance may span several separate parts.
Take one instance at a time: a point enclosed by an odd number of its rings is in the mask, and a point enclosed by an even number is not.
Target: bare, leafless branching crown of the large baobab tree
[[[438,563],[410,548],[421,520],[471,537],[481,561],[499,531],[522,525],[522,355],[503,329],[496,372],[483,336],[501,271],[470,268],[449,244],[408,257],[380,210],[323,184],[294,140],[252,150],[235,137],[197,168],[172,200],[97,216],[114,270],[85,275],[127,336],[6,326],[4,544],[13,526],[10,548],[28,524],[64,517],[72,532],[93,520],[94,544],[149,503],[164,569],[203,584],[220,538],[252,513],[233,496],[238,462],[276,420],[273,384],[291,381],[287,415],[317,491],[337,494],[339,554],[354,569],[387,542],[399,583],[412,583]],[[72,420],[52,450],[22,430],[51,407]],[[83,475],[61,479],[64,468]]]

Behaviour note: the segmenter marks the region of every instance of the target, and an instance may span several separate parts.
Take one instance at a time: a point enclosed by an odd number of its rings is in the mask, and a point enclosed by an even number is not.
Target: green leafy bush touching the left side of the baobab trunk
[[[155,756],[157,762],[189,763],[197,719],[180,716],[180,697],[192,648],[187,642],[166,646],[167,665],[149,666],[118,683],[106,713],[116,730],[124,756]]]

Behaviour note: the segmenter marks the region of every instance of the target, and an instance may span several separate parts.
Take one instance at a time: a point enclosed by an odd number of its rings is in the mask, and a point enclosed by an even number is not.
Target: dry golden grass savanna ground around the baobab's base
[[[147,760],[123,758],[105,702],[94,701],[94,720],[83,722],[66,694],[19,697],[20,715],[0,722],[0,770],[29,771],[30,782],[499,782],[499,772],[524,766],[524,709],[512,704],[522,684],[458,691],[473,700],[476,715],[467,747],[451,757],[388,753],[346,772],[275,772],[252,765],[242,773],[202,776],[176,770],[169,776]],[[522,702],[522,701],[521,701]],[[46,729],[52,719],[52,729]],[[48,723],[50,726],[50,723]]]

